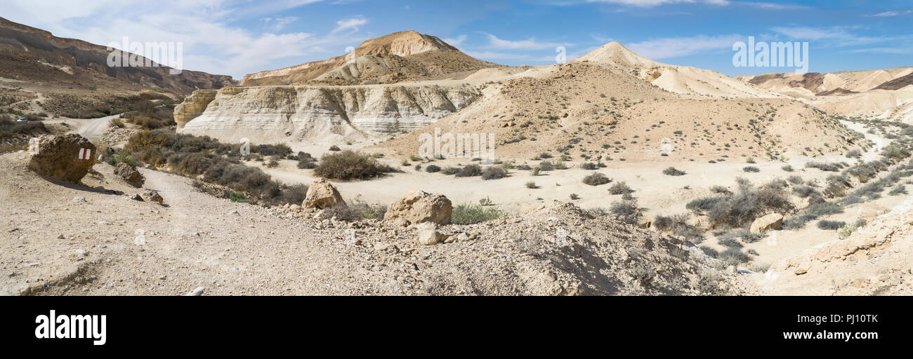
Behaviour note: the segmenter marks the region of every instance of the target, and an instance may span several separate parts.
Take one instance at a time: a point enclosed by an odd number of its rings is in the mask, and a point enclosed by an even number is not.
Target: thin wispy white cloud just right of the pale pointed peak
[[[745,38],[739,35],[668,37],[632,43],[628,48],[640,56],[661,59],[731,49],[732,44]]]

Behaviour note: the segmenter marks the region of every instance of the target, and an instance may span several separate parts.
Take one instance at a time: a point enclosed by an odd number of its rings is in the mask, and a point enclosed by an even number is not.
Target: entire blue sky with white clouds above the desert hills
[[[810,71],[913,66],[913,2],[900,0],[4,0],[0,16],[100,45],[181,42],[184,68],[236,78],[344,54],[402,30],[504,65],[554,63],[610,41],[657,61],[729,76],[732,45],[808,42]]]

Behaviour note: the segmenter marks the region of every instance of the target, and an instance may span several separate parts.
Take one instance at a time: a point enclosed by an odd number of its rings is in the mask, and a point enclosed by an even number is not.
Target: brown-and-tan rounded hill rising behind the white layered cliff
[[[244,86],[371,85],[466,77],[488,67],[435,36],[402,31],[365,41],[351,54],[248,74]]]

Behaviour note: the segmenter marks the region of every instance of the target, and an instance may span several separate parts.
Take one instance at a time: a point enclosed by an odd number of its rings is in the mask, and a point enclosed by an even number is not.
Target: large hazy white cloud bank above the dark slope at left
[[[180,42],[184,47],[183,67],[188,70],[240,78],[248,73],[275,68],[274,61],[326,53],[338,44],[358,44],[363,38],[352,32],[324,36],[280,30],[297,20],[294,16],[265,16],[264,11],[288,9],[320,0],[4,0],[2,16],[17,23],[52,32],[55,36],[85,40],[100,46],[131,42]],[[268,32],[257,33],[233,26],[238,16],[262,19]],[[269,20],[265,20],[269,18]],[[356,28],[367,21],[347,22]]]

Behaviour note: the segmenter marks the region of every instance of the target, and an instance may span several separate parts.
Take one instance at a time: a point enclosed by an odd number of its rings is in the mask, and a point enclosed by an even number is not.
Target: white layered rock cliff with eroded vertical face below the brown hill
[[[481,96],[469,85],[226,87],[174,109],[179,131],[225,141],[325,143],[411,131]]]

